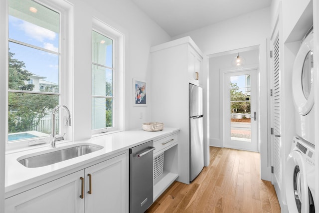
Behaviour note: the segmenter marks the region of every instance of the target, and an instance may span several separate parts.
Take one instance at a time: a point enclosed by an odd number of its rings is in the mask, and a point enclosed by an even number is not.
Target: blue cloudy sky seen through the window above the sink
[[[58,52],[59,35],[53,31],[9,15],[9,38]],[[59,56],[9,42],[13,58],[23,61],[25,69],[58,83]]]

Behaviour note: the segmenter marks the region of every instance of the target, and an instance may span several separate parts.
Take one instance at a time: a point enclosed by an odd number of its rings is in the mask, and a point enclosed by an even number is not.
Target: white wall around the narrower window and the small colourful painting
[[[150,107],[133,107],[133,78],[150,80],[150,46],[170,36],[131,0],[70,0],[74,4],[74,139],[91,137],[91,18],[95,16],[125,36],[125,129],[151,119]],[[84,42],[87,41],[87,42]],[[76,94],[77,93],[77,94]],[[140,116],[143,116],[140,119]]]

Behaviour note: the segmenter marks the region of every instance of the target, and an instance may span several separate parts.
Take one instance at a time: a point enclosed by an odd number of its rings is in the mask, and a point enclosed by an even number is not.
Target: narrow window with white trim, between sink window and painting
[[[123,34],[93,18],[92,134],[123,130]]]

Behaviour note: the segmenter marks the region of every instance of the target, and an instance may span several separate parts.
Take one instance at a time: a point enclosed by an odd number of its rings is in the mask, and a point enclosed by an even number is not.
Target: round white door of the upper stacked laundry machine
[[[293,95],[296,110],[307,115],[314,106],[314,33],[311,32],[297,53],[293,68]]]

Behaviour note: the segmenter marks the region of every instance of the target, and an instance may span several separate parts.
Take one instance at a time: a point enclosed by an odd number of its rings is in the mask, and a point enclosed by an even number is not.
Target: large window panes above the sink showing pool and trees
[[[51,132],[51,112],[61,99],[60,25],[57,9],[8,0],[8,144]]]

